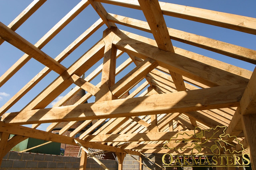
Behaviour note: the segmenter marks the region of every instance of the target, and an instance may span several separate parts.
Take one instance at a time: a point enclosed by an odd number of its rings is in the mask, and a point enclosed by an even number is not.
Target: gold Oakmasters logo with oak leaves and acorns
[[[176,137],[170,138],[163,147],[182,153],[191,152],[191,154],[171,155],[166,153],[162,157],[163,164],[165,167],[245,167],[249,165],[248,154],[243,153],[245,151],[243,144],[236,136],[225,134],[226,128],[226,126],[217,126],[202,130],[195,127],[194,132],[178,133]],[[200,153],[208,153],[208,155],[203,156]],[[225,155],[221,155],[221,153],[225,153]]]

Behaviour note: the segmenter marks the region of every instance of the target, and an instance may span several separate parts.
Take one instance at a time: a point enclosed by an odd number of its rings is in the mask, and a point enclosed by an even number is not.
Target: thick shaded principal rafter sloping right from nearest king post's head
[[[182,55],[162,50],[159,51],[155,41],[152,41],[152,39],[125,31],[122,32],[123,33],[116,36],[113,41],[118,49],[142,59],[147,57],[154,59],[158,62],[159,66],[194,79],[200,83],[208,86],[219,86],[248,82],[248,79],[246,78],[203,64]],[[139,47],[138,44],[140,45]],[[184,67],[184,65],[187,67]],[[211,74],[211,76],[209,74]]]

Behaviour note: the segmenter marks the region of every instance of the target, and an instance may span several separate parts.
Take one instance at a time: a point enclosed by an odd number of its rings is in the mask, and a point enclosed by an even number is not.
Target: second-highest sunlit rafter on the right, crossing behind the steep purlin
[[[145,32],[151,32],[151,29],[147,22],[123,17],[115,14],[108,14],[107,19],[111,22],[129,26],[131,28],[136,28]],[[244,48],[241,46],[236,46],[233,44],[225,43],[215,39],[203,37],[200,35],[195,35],[189,32],[184,32],[181,30],[176,30],[173,28],[168,28],[168,34],[170,38],[176,41],[180,41],[186,44],[190,44],[196,47],[204,48],[219,54],[223,54],[229,57],[240,59],[252,64],[256,64],[255,50]],[[175,48],[174,48],[175,50]],[[176,50],[175,50],[176,52]]]

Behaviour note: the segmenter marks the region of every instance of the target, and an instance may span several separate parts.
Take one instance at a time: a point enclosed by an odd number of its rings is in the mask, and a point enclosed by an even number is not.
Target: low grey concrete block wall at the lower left
[[[115,160],[100,160],[111,170],[118,169]],[[9,152],[3,158],[0,170],[77,170],[80,166],[80,158],[59,155],[46,155],[36,153]],[[86,169],[104,170],[95,160],[87,159]]]

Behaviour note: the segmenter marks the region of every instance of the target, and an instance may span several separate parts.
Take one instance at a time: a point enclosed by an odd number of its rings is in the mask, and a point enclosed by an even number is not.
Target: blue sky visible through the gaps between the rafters
[[[0,21],[5,25],[8,25],[20,12],[22,12],[32,1],[31,0],[1,0],[0,1]],[[204,8],[209,10],[216,10],[220,12],[227,12],[236,15],[243,15],[247,17],[256,18],[255,0],[216,0],[216,1],[203,1],[203,0],[165,0],[164,2],[176,3],[180,5],[192,6],[197,8]],[[22,26],[20,26],[16,32],[24,37],[26,40],[35,44],[45,33],[47,33],[61,18],[63,18],[74,6],[77,5],[77,0],[48,0],[36,11]],[[127,9],[119,6],[112,6],[109,4],[103,4],[106,11],[126,17],[140,19],[143,21],[145,17],[141,10]],[[184,19],[164,16],[166,24],[170,28],[191,32],[194,34],[202,35],[205,37],[217,39],[220,41],[228,42],[231,44],[243,46],[246,48],[256,50],[256,36],[229,30],[226,28],[220,28],[217,26],[210,26],[207,24],[197,23],[194,21],[188,21]],[[89,28],[95,21],[99,19],[99,16],[95,10],[89,5],[83,12],[81,12],[72,22],[70,22],[56,37],[54,37],[42,51],[49,56],[55,58],[62,50],[64,50],[70,43],[72,43],[79,35],[81,35],[87,28]],[[152,34],[128,28],[125,26],[117,25],[119,29],[130,31],[136,34],[143,35],[153,39]],[[85,53],[93,44],[95,44],[101,37],[102,31],[107,27],[102,26],[93,36],[86,40],[77,50],[69,55],[61,64],[65,67],[69,67],[74,61],[76,61],[83,53]],[[253,71],[255,65],[249,64],[231,57],[226,57],[208,50],[200,49],[191,45],[172,41],[174,46],[184,48],[186,50],[193,51],[195,53],[205,55],[214,59],[227,62],[229,64],[239,66]],[[24,53],[12,45],[4,42],[0,46],[0,75],[6,72],[10,66],[12,66]],[[128,58],[127,55],[122,55],[117,60],[117,65],[121,64]],[[88,73],[93,71],[102,60],[96,64],[92,69],[88,70]],[[116,80],[122,78],[129,70],[135,67],[131,64],[120,75],[116,77]],[[20,69],[5,85],[0,88],[0,106],[5,104],[15,93],[17,93],[27,82],[29,82],[37,73],[39,73],[44,66],[39,62],[31,59],[25,67]],[[86,75],[88,75],[86,73]],[[57,73],[51,71],[43,81],[36,85],[29,93],[27,93],[21,100],[19,100],[8,112],[15,112],[21,110],[26,104],[29,103],[38,93],[40,93],[47,85],[50,84],[56,77]],[[91,83],[96,85],[100,81],[101,75],[97,76]],[[142,81],[141,83],[143,83]],[[141,84],[140,83],[140,84]],[[140,85],[139,84],[139,85]],[[55,102],[70,91],[75,85],[70,86],[65,90]],[[92,97],[89,102],[94,102]],[[50,104],[48,107],[51,107]]]

